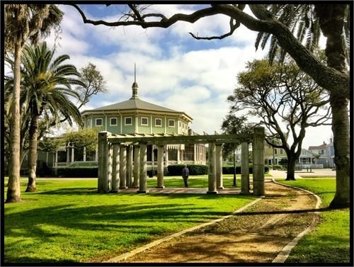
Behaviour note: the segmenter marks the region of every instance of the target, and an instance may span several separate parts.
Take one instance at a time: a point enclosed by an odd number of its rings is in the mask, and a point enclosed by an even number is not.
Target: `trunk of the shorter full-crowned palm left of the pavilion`
[[[33,115],[30,121],[30,130],[28,132],[30,148],[28,150],[28,184],[25,192],[35,192],[35,171],[37,169],[37,135],[39,115]]]

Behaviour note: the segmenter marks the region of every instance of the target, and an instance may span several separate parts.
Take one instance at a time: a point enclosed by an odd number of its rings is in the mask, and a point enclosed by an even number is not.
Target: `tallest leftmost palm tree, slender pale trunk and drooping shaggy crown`
[[[64,13],[53,4],[5,4],[5,48],[13,52],[13,97],[9,120],[11,138],[6,203],[21,200],[20,190],[20,80],[21,52],[27,40],[37,40],[59,26]]]

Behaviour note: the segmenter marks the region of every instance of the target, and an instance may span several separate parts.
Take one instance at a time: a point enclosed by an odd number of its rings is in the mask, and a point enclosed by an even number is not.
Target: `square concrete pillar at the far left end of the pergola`
[[[98,192],[104,192],[106,186],[104,184],[108,181],[107,174],[107,144],[108,132],[98,132]]]

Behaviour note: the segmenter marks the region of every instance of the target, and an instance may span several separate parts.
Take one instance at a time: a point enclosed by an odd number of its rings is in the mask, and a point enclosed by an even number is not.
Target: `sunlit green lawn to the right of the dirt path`
[[[327,208],[336,193],[336,180],[331,178],[278,182],[316,193],[322,200],[321,208]],[[321,212],[319,225],[300,239],[285,263],[348,263],[349,219],[349,208]]]

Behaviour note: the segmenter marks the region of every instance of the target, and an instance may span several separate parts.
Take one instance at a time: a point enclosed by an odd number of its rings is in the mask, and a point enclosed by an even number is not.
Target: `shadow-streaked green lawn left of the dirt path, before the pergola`
[[[179,179],[182,186],[183,180]],[[165,185],[170,183],[177,182],[166,178]],[[202,186],[203,182],[191,178],[190,183]],[[25,186],[26,180],[21,179],[21,192]],[[173,232],[227,215],[256,198],[253,195],[101,194],[96,192],[96,180],[40,178],[37,186],[37,193],[21,193],[22,203],[5,205],[3,256],[6,263],[109,259]]]

